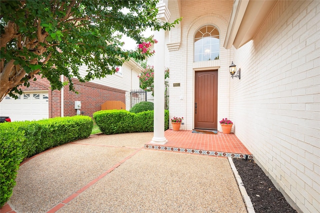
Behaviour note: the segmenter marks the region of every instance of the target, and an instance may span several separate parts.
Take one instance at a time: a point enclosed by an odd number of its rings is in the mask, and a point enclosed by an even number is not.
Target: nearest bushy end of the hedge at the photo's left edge
[[[19,129],[19,124],[0,124],[0,207],[12,195],[16,173],[23,160],[22,144],[25,140],[24,131]]]

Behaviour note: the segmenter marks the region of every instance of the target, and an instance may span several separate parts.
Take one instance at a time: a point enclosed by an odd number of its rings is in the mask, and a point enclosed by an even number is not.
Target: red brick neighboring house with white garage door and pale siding
[[[85,74],[85,68],[80,67],[80,74]],[[0,102],[0,114],[10,116],[11,121],[73,116],[77,113],[74,102],[80,101],[79,113],[92,117],[94,112],[101,110],[105,101],[121,101],[125,104],[126,93],[139,89],[137,75],[141,69],[134,60],[129,60],[123,63],[117,73],[103,79],[81,83],[73,78],[78,94],[69,91],[68,86],[61,91],[51,91],[48,80],[37,76],[36,81],[30,81],[30,87],[23,87],[24,93],[17,100],[8,95],[3,98]],[[63,81],[66,81],[65,77]]]

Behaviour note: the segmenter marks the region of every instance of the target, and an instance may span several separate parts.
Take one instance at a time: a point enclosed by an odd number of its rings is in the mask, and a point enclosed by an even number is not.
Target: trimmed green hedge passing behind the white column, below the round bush
[[[153,131],[153,111],[130,113],[125,110],[101,110],[93,113],[93,119],[101,132],[106,135]],[[164,130],[167,130],[168,110],[164,110],[164,121]]]

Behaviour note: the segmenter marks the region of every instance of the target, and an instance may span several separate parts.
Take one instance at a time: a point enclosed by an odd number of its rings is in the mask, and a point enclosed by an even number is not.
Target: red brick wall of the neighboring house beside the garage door
[[[64,79],[66,81],[66,78]],[[125,103],[125,91],[99,84],[85,82],[81,83],[77,79],[72,79],[75,90],[78,94],[69,91],[68,85],[64,86],[64,110],[63,116],[74,116],[74,101],[81,101],[81,114],[92,117],[92,114],[101,110],[101,105],[105,101],[122,101]],[[37,76],[37,80],[30,81],[29,87],[21,86],[23,91],[46,90],[49,95],[49,118],[61,116],[61,91],[49,89],[50,83],[46,78]]]

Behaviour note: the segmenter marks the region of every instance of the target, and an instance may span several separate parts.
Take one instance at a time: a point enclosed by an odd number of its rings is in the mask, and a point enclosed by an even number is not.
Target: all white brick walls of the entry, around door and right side
[[[234,122],[236,136],[291,205],[319,212],[320,1],[277,1],[253,40],[237,50],[222,47],[233,1],[181,2],[182,21],[166,33],[166,43],[180,37],[178,50],[165,52],[170,118],[182,116],[183,128],[194,128],[194,72],[218,69],[218,120]],[[219,29],[219,60],[193,63],[193,36],[206,24]],[[240,80],[229,77],[232,60]]]

